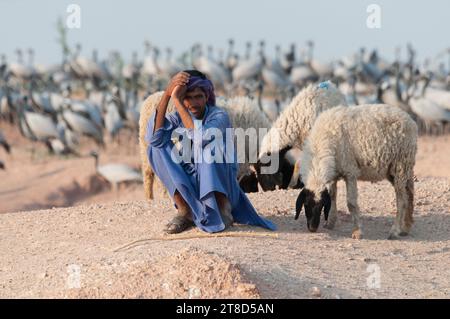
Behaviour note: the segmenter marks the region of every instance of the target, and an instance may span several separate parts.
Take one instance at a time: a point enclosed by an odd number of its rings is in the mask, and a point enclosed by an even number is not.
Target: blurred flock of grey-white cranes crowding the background
[[[171,76],[184,69],[198,69],[214,82],[219,95],[248,95],[269,120],[275,121],[301,88],[323,80],[335,82],[349,104],[387,103],[401,107],[418,122],[423,133],[442,134],[450,123],[450,49],[419,64],[416,51],[400,49],[393,62],[376,50],[361,48],[354,54],[322,62],[314,57],[314,43],[301,49],[275,47],[266,53],[260,41],[256,49],[248,42],[245,52],[228,48],[192,45],[178,57],[148,41],[142,58],[134,52],[126,63],[117,51],[100,60],[97,51],[88,58],[77,45],[70,56],[56,65],[35,63],[32,49],[16,50],[17,59],[0,56],[0,123],[10,122],[21,134],[45,144],[54,154],[80,154],[80,136],[101,148],[118,138],[122,130],[135,132],[145,97],[164,89]],[[443,62],[444,58],[449,61]],[[10,146],[0,131],[0,145]],[[95,155],[94,155],[95,154]],[[98,158],[96,152],[90,155]],[[120,165],[119,165],[120,166]],[[97,167],[111,183],[139,180],[125,166]],[[0,168],[4,168],[0,161]],[[121,173],[118,173],[121,172]],[[122,177],[121,177],[122,176]]]

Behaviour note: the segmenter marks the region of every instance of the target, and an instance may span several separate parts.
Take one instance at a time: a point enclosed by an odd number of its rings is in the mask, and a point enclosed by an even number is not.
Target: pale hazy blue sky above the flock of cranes
[[[142,56],[144,39],[175,53],[196,41],[226,48],[232,37],[243,50],[245,41],[265,39],[270,54],[276,44],[287,50],[312,39],[316,57],[326,60],[361,46],[392,58],[394,48],[408,41],[421,58],[450,47],[448,0],[0,0],[0,53],[15,60],[16,48],[32,47],[36,61],[59,62],[55,24],[58,16],[66,20],[71,3],[81,8],[81,28],[69,30],[69,43],[82,43],[89,56],[93,48],[101,57],[110,49],[126,59],[133,50]],[[381,8],[380,29],[366,26],[372,3]]]

